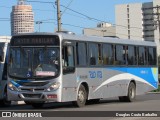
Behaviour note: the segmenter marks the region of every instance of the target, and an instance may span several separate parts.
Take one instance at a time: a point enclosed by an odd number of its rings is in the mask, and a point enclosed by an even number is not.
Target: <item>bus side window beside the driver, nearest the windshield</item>
[[[74,63],[74,47],[63,46],[62,50],[63,73],[72,73],[75,71]]]

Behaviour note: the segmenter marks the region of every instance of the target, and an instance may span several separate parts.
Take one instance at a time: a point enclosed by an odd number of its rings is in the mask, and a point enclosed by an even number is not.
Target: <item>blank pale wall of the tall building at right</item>
[[[116,6],[116,34],[119,38],[142,40],[142,4]]]

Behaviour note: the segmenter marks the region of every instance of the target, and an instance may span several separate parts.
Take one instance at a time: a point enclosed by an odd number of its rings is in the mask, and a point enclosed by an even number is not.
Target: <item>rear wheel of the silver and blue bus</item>
[[[136,86],[133,82],[129,84],[126,102],[133,102],[136,99]]]

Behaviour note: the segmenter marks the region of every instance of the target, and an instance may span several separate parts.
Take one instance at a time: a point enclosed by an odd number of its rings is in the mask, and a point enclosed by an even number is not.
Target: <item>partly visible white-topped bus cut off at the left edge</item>
[[[10,37],[0,37],[0,105],[9,106],[11,101],[7,100],[7,56]]]

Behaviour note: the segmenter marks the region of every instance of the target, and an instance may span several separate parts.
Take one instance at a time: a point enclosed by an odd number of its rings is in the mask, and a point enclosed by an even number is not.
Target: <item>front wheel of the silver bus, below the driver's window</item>
[[[86,104],[87,100],[87,92],[83,85],[80,86],[77,95],[77,101],[73,102],[73,105],[76,107],[83,107]]]

